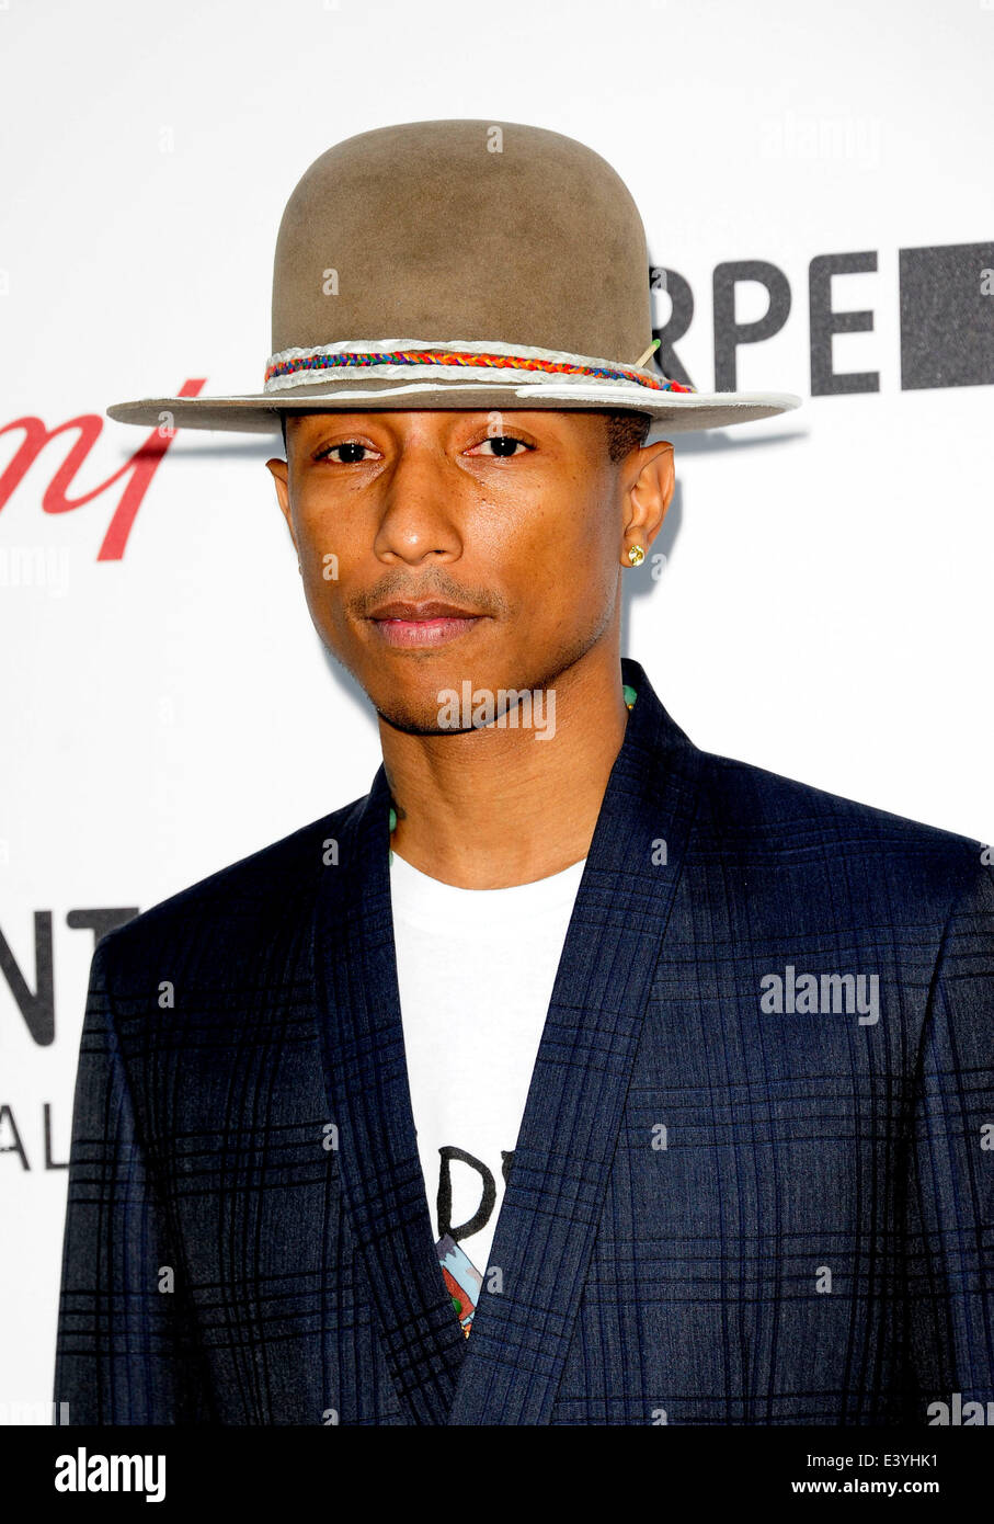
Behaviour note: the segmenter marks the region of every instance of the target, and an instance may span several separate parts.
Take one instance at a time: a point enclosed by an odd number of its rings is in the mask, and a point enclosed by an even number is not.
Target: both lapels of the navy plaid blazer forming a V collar
[[[484,1277],[469,1340],[435,1254],[417,1152],[382,765],[321,881],[315,971],[329,1120],[408,1423],[550,1422],[702,762],[639,663],[623,658],[621,677],[638,701],[607,779],[515,1146],[490,1251],[501,1276]]]

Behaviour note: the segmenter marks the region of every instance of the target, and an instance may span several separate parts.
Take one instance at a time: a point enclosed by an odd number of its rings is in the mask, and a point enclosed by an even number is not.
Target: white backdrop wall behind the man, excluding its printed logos
[[[0,0],[0,1419],[49,1420],[94,913],[364,794],[379,762],[306,614],[274,447],[181,431],[100,558],[131,475],[52,509],[146,439],[97,431],[104,408],[262,383],[279,219],[332,143],[460,116],[578,137],[693,290],[693,384],[715,384],[715,268],[764,261],[790,311],[737,386],[805,398],[676,436],[626,652],[699,745],[989,841],[992,78],[994,0]],[[901,250],[936,253],[904,279]],[[872,314],[831,366],[877,389],[811,396],[827,255],[863,265],[833,306]],[[766,300],[743,282],[738,322]],[[21,469],[26,416],[90,419],[75,475],[78,430]]]

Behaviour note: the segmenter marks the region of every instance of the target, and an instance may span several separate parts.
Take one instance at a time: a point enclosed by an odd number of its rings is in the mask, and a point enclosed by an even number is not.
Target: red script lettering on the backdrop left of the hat
[[[205,378],[184,381],[177,396],[196,396],[204,381]],[[70,514],[73,509],[91,503],[102,492],[110,492],[117,482],[122,482],[123,486],[117,506],[104,535],[104,544],[97,552],[97,561],[120,561],[128,544],[131,526],[139,512],[139,504],[148,492],[149,482],[155,475],[160,460],[175,437],[175,430],[154,428],[145,443],[135,450],[131,460],[125,460],[120,471],[116,471],[107,482],[100,482],[93,491],[84,492],[82,497],[68,497],[68,488],[79,466],[104,430],[104,419],[99,413],[81,413],[79,418],[70,418],[67,424],[59,424],[56,428],[46,428],[40,418],[15,418],[12,424],[0,427],[0,434],[8,434],[12,428],[23,430],[24,440],[3,475],[0,475],[0,509],[18,488],[44,447],[58,434],[75,428],[79,437],[46,486],[44,497],[41,498],[41,511],[43,514]]]

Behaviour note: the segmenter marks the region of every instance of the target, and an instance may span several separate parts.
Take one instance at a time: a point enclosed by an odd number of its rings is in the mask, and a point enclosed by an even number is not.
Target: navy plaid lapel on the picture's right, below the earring
[[[702,753],[638,663],[623,677],[638,701],[566,933],[454,1425],[550,1422],[693,821]]]

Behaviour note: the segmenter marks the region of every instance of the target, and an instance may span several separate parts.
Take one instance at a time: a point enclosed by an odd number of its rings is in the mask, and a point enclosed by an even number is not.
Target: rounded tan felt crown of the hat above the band
[[[329,148],[280,223],[271,352],[378,338],[635,364],[652,306],[627,186],[585,143],[516,122],[408,122]]]

